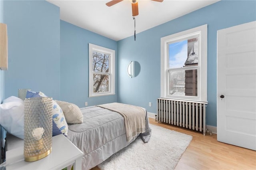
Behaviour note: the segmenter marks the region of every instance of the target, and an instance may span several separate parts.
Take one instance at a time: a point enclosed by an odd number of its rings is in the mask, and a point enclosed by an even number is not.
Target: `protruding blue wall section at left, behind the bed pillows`
[[[8,26],[5,97],[30,88],[60,97],[60,9],[46,1],[4,1]]]

